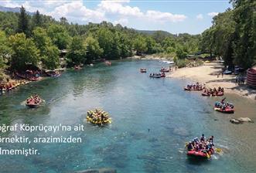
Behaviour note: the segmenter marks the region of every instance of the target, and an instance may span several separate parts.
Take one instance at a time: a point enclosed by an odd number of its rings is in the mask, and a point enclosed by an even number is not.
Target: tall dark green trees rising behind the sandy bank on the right
[[[233,9],[213,18],[200,38],[200,50],[224,59],[226,66],[245,69],[256,63],[256,2],[231,0]]]

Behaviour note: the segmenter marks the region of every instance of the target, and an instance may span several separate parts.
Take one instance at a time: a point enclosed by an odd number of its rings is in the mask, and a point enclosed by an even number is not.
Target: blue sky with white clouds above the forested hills
[[[133,29],[164,30],[172,34],[200,34],[212,25],[212,18],[227,8],[229,0],[105,0],[105,1],[21,1],[0,0],[5,7],[51,15],[69,22],[112,22]]]

